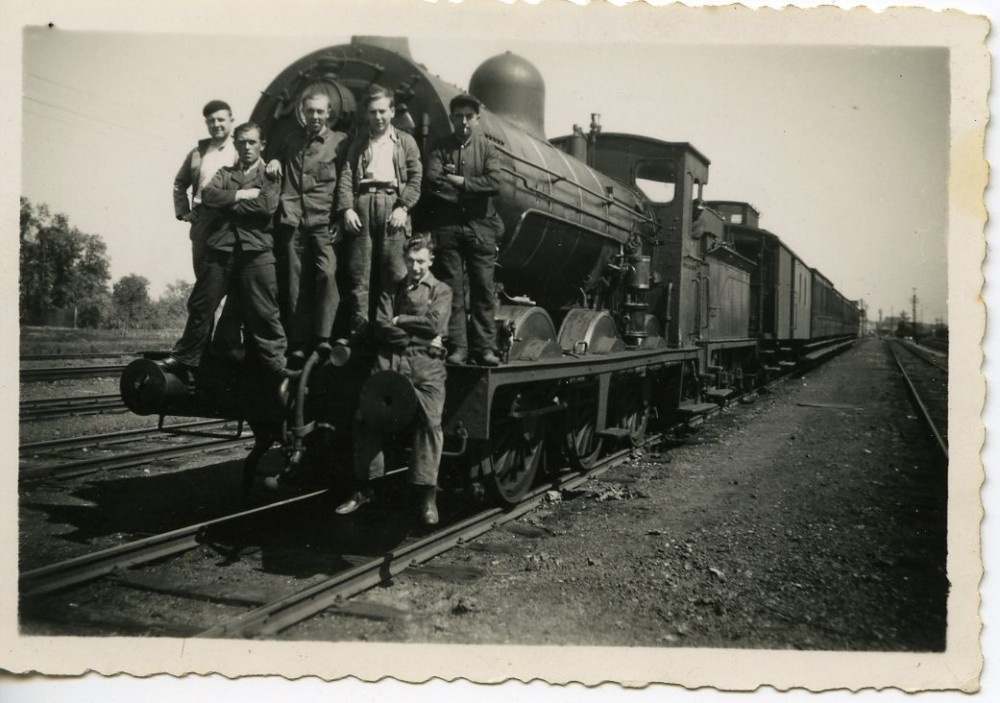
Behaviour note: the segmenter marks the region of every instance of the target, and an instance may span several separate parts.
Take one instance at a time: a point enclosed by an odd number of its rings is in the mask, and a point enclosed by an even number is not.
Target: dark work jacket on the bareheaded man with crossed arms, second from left
[[[201,192],[202,206],[221,214],[205,240],[208,248],[232,251],[239,238],[243,251],[271,251],[274,248],[271,221],[278,209],[280,187],[265,175],[262,159],[245,172],[236,165],[216,173]],[[236,191],[249,188],[260,188],[260,194],[237,202]]]

